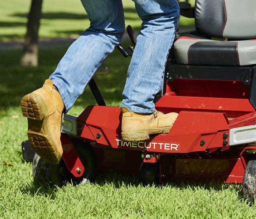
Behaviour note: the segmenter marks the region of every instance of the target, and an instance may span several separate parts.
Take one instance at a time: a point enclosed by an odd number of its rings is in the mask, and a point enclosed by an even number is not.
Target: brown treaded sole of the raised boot
[[[23,116],[27,117],[27,136],[34,151],[48,163],[59,163],[56,144],[48,128],[48,109],[41,96],[33,93],[25,95],[21,100],[21,109]]]

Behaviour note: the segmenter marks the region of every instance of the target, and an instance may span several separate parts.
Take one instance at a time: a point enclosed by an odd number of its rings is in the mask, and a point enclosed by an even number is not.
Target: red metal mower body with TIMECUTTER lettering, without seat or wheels
[[[230,146],[229,136],[233,128],[255,125],[256,112],[248,97],[249,85],[236,81],[166,81],[156,109],[179,113],[168,134],[122,141],[119,107],[88,106],[76,118],[76,135],[91,143],[99,170],[138,174],[142,162],[158,162],[160,183],[242,182],[256,147]],[[63,159],[72,160],[70,154]]]

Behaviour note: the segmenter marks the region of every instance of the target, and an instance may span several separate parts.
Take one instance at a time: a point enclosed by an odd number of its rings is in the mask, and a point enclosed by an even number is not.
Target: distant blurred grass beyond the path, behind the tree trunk
[[[0,42],[24,38],[30,3],[30,0],[0,1]],[[141,20],[134,3],[123,0],[123,6],[126,26],[130,24],[136,32],[139,31]],[[193,19],[183,17],[179,26],[191,26],[193,23]],[[43,0],[39,37],[77,38],[87,27],[89,20],[79,0]]]

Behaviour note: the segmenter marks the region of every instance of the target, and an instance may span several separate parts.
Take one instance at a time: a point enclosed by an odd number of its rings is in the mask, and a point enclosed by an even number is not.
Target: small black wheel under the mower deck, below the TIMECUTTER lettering
[[[139,180],[143,184],[153,184],[159,182],[159,163],[146,163],[140,165]]]

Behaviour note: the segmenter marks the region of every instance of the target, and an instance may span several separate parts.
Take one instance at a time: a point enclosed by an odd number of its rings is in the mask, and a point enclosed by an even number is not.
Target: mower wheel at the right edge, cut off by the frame
[[[247,163],[243,179],[243,193],[245,199],[254,202],[256,197],[256,155]]]

